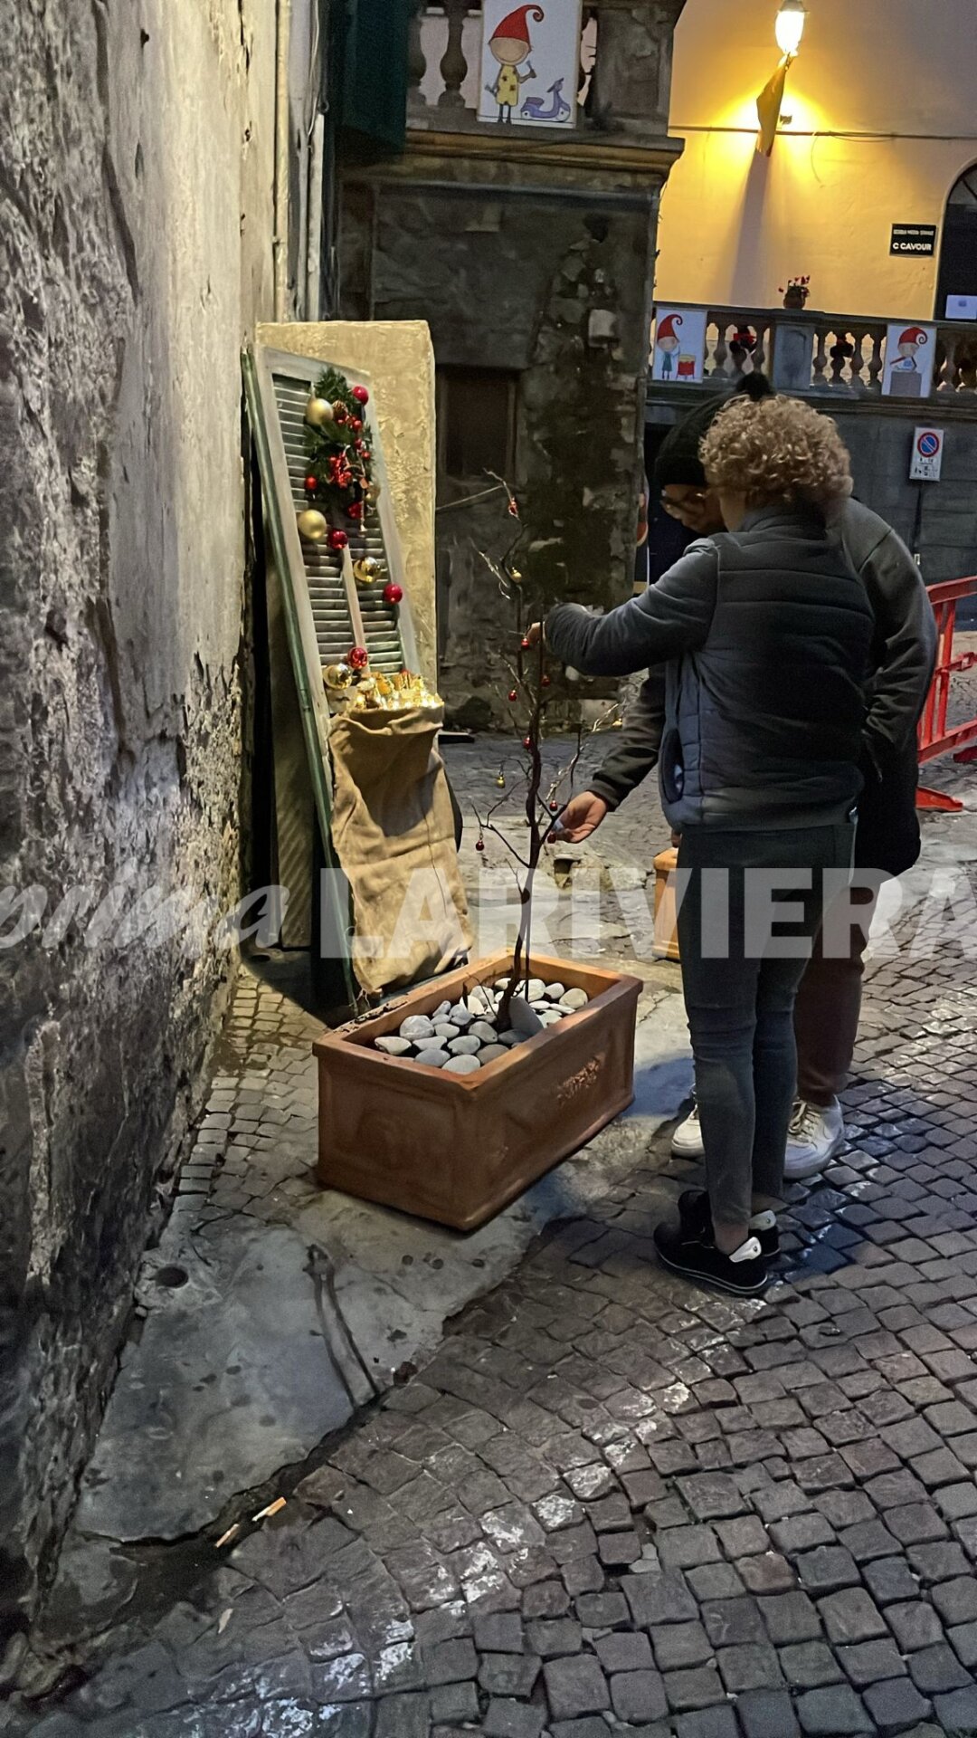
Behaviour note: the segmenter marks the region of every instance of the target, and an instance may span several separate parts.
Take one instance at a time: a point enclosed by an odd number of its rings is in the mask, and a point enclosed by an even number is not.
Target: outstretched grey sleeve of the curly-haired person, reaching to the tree
[[[584,676],[631,676],[666,664],[706,641],[716,607],[716,546],[690,544],[640,598],[607,615],[589,615],[579,603],[558,603],[546,617],[546,643],[555,657]]]

